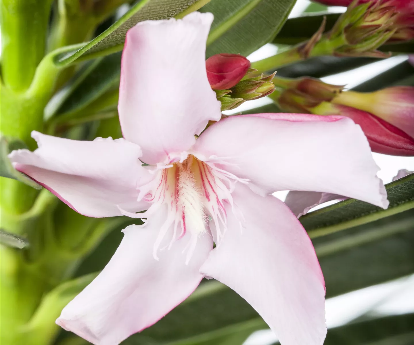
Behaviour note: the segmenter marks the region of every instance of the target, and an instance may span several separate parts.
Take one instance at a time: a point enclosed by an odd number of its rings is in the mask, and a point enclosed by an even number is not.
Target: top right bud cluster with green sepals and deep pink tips
[[[412,1],[347,2],[349,3],[347,11],[338,18],[329,32],[323,34],[326,22],[324,19],[312,38],[296,47],[301,58],[317,55],[385,58],[390,54],[377,50],[385,42],[414,38]]]

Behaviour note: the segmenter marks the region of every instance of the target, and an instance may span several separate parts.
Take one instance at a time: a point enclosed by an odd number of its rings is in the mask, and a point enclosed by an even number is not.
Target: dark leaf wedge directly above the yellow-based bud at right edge
[[[363,82],[352,90],[359,92],[371,92],[385,87],[396,85],[414,85],[414,67],[408,61],[404,61],[389,70]]]

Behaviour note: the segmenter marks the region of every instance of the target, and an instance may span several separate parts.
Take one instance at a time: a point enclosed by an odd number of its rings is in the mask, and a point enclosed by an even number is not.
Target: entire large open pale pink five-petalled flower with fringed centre
[[[118,105],[124,138],[34,132],[37,150],[10,154],[16,169],[83,215],[146,218],[123,230],[111,261],[56,321],[93,344],[116,345],[151,326],[209,277],[246,299],[283,345],[321,345],[318,259],[271,194],[321,191],[388,205],[368,142],[350,119],[220,120],[205,68],[212,20],[195,12],[128,31]],[[156,75],[167,87],[149,92],[159,89]],[[204,130],[209,121],[218,122]]]

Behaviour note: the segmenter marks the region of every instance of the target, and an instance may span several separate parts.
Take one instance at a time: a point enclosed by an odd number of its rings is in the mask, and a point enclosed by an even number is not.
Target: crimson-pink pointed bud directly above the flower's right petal
[[[314,110],[314,113],[320,115],[342,115],[351,118],[361,126],[373,152],[395,156],[414,156],[414,139],[371,113],[326,102]]]

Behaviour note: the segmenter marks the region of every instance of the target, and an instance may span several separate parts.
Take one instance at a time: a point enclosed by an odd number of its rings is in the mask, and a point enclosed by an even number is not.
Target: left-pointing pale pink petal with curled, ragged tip
[[[142,166],[140,147],[124,139],[80,141],[32,132],[39,148],[13,151],[17,170],[39,182],[75,211],[89,217],[148,208],[137,187],[153,178]]]

